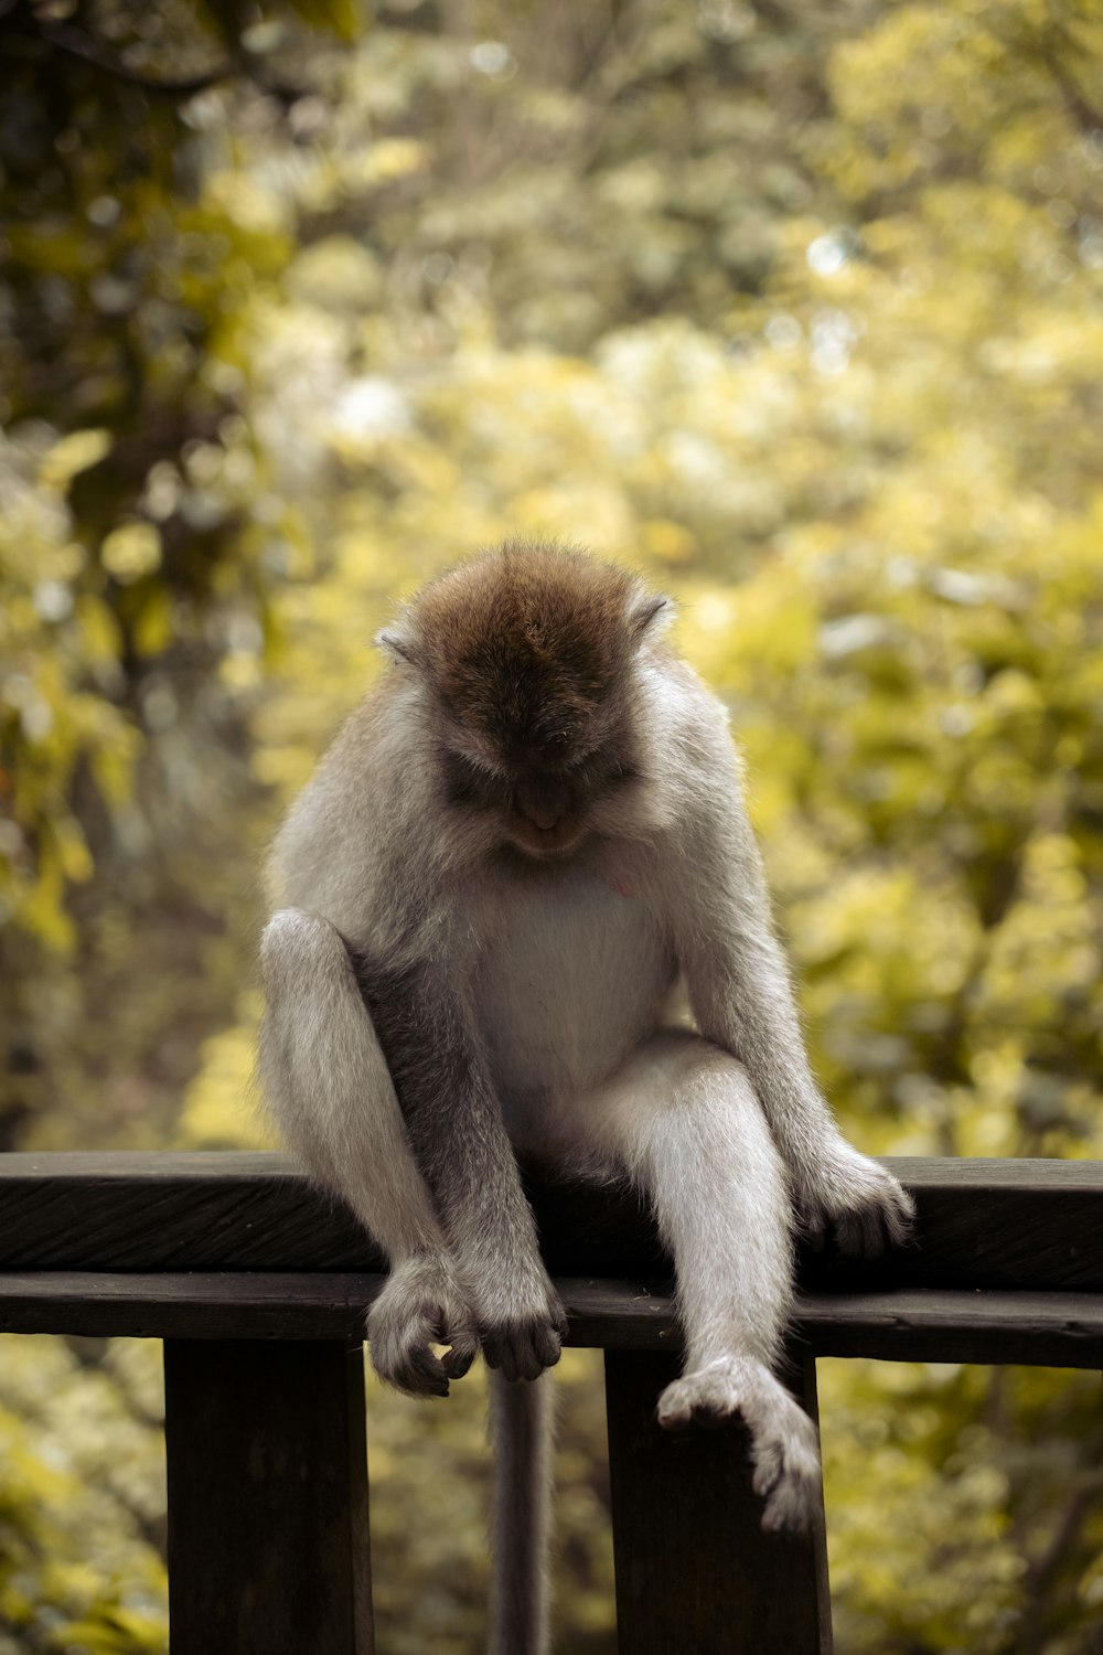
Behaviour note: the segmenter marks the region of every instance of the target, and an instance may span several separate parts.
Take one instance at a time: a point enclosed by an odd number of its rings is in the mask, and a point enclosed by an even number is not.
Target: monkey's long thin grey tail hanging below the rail
[[[556,1392],[552,1375],[489,1375],[494,1450],[488,1655],[547,1655]]]

